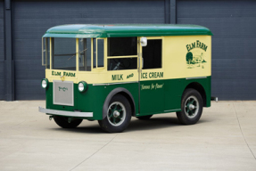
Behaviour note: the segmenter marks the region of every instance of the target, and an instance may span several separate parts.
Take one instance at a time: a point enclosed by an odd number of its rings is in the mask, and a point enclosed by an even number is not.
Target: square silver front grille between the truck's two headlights
[[[54,104],[74,106],[73,89],[72,81],[54,80]]]

